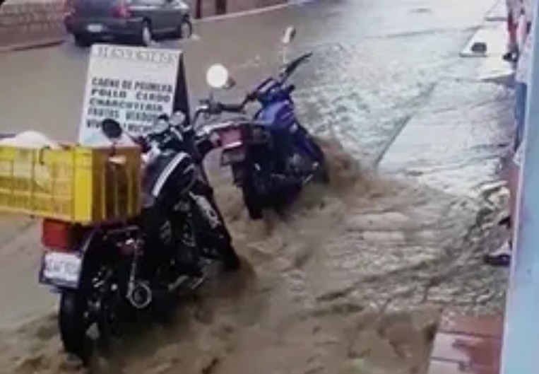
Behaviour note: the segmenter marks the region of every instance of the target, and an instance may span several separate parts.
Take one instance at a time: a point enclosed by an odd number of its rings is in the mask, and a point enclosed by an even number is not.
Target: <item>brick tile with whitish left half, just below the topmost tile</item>
[[[439,333],[434,339],[432,358],[444,361],[499,366],[502,341],[487,337]]]

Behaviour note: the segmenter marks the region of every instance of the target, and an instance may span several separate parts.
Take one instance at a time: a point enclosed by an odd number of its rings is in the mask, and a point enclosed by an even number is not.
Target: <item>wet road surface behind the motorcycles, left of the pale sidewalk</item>
[[[184,48],[191,99],[205,94],[204,71],[230,66],[242,89],[275,69],[288,25],[298,37],[292,54],[314,50],[298,72],[304,122],[338,136],[356,156],[376,163],[436,85],[449,81],[446,102],[461,105],[455,79],[473,78],[477,62],[458,57],[492,0],[314,1],[241,18],[201,23]],[[1,129],[38,129],[76,136],[88,51],[66,43],[0,56]],[[466,88],[465,88],[466,90]]]

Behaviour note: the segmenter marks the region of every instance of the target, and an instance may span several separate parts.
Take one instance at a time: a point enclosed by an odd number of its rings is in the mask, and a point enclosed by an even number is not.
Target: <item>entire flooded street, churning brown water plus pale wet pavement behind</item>
[[[193,101],[214,62],[238,82],[223,97],[238,98],[276,69],[280,35],[296,26],[288,52],[315,52],[295,78],[298,109],[332,139],[333,183],[310,187],[262,230],[213,170],[246,267],[208,281],[171,326],[97,357],[93,373],[419,374],[443,308],[502,308],[506,274],[480,258],[503,234],[494,223],[504,197],[482,197],[498,178],[509,91],[478,79],[480,60],[458,56],[492,5],[313,1],[197,25],[182,45]],[[73,139],[86,57],[71,45],[1,55],[3,129]],[[56,297],[35,281],[39,228],[2,220],[0,373],[73,372]]]

